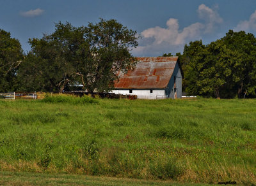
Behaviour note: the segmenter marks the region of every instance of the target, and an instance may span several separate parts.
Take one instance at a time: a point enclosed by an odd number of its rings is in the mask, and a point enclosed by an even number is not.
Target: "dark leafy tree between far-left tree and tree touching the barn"
[[[76,50],[83,34],[70,23],[56,24],[43,38],[29,39],[31,52],[20,67],[22,89],[62,92],[76,76]]]

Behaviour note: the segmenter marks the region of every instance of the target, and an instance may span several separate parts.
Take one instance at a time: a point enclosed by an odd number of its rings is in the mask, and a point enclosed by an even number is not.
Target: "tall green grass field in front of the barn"
[[[0,111],[0,175],[256,183],[256,99],[0,99]]]

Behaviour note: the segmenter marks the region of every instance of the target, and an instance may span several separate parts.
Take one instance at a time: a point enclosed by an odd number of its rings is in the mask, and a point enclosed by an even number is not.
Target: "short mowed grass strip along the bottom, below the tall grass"
[[[0,172],[1,185],[195,185],[160,180],[29,172]],[[208,184],[197,184],[208,185]]]

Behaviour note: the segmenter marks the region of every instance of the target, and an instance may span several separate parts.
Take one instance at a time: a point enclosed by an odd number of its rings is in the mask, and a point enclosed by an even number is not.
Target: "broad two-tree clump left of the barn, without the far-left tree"
[[[52,34],[29,39],[32,51],[20,71],[20,76],[26,75],[29,80],[41,79],[38,85],[42,90],[62,92],[81,83],[88,92],[109,91],[118,80],[118,72],[125,73],[136,64],[130,53],[138,45],[136,31],[116,20],[101,18],[87,27],[74,27],[68,22],[55,26]],[[31,65],[33,61],[36,64]]]

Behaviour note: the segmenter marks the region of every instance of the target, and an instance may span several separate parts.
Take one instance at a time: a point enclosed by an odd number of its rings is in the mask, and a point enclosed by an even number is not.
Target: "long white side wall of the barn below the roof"
[[[153,92],[150,93],[150,89],[132,89],[132,93],[129,93],[129,89],[116,89],[112,90],[115,94],[123,95],[137,95],[138,99],[156,99],[156,96],[165,96],[164,89],[152,89]]]

